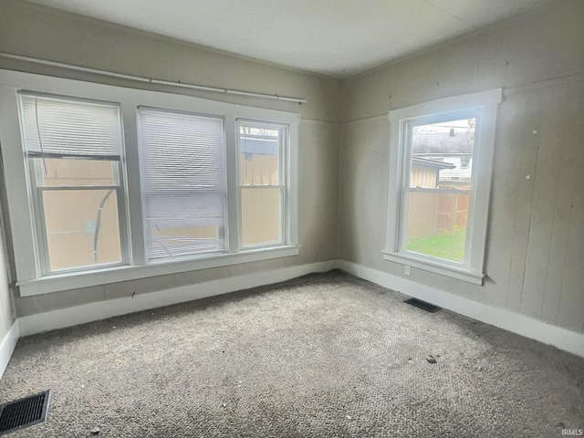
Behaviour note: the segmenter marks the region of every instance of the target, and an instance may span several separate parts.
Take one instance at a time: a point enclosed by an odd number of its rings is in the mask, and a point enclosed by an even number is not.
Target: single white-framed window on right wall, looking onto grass
[[[500,99],[495,89],[390,112],[386,259],[482,284]]]

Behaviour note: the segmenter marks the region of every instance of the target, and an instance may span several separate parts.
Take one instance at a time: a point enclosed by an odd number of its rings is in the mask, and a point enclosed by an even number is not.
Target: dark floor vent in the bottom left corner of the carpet
[[[51,390],[0,404],[0,435],[47,420]]]

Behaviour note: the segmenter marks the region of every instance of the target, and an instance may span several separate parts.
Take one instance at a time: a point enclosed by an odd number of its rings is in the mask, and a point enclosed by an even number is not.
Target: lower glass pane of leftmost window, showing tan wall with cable
[[[114,190],[43,190],[50,270],[120,262]]]

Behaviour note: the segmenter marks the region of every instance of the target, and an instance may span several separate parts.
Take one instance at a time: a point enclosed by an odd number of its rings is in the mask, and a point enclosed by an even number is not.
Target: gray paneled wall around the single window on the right
[[[560,0],[343,81],[340,258],[403,276],[381,254],[388,111],[503,87],[485,287],[419,269],[411,278],[584,332],[583,22],[584,2]]]

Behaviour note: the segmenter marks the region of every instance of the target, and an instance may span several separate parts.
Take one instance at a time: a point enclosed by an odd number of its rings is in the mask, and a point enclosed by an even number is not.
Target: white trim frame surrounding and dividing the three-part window
[[[79,272],[57,273],[41,276],[37,264],[35,238],[35,215],[30,203],[30,188],[26,180],[26,161],[18,114],[17,91],[51,93],[64,97],[108,100],[120,103],[123,135],[126,151],[123,165],[126,166],[123,182],[129,220],[128,266],[96,267]],[[143,222],[141,208],[140,167],[137,135],[137,107],[150,106],[187,112],[217,115],[224,118],[226,169],[228,190],[228,237],[229,252],[219,255],[199,255],[188,259],[155,262],[146,265],[145,247],[142,239]],[[289,143],[287,148],[287,242],[262,248],[240,248],[238,234],[232,230],[237,226],[237,156],[235,120],[261,120],[287,125]],[[266,260],[298,254],[297,247],[297,144],[299,115],[297,113],[266,110],[221,101],[194,98],[191,96],[162,93],[143,89],[125,89],[65,78],[52,78],[30,73],[0,69],[0,142],[5,162],[5,183],[9,214],[13,224],[17,283],[21,296],[39,295],[58,290],[90,287],[148,276],[162,276],[217,266]]]

